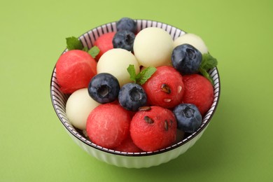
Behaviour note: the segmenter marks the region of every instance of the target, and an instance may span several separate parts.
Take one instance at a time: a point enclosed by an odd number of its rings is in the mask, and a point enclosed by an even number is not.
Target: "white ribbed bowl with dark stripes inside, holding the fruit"
[[[169,32],[173,39],[186,34],[185,31],[167,25],[162,22],[157,22],[153,20],[135,20],[137,22],[137,29],[140,31],[146,27],[160,27]],[[84,46],[92,48],[94,41],[107,32],[116,31],[116,22],[110,22],[105,25],[101,25],[90,31],[87,31],[85,34],[82,34],[79,38]],[[64,52],[67,50],[65,49]],[[62,53],[64,53],[62,52]],[[199,129],[193,134],[186,135],[182,141],[167,148],[163,148],[159,151],[153,152],[142,152],[142,153],[125,153],[120,151],[113,151],[108,148],[103,148],[98,146],[89,139],[85,137],[83,131],[78,130],[69,123],[68,118],[66,117],[66,101],[69,98],[69,94],[64,94],[59,89],[59,85],[56,80],[56,71],[55,67],[52,71],[52,76],[50,80],[50,97],[52,101],[52,106],[59,118],[59,121],[64,126],[64,130],[69,134],[71,139],[83,148],[88,154],[92,155],[97,160],[102,160],[103,162],[108,163],[109,165],[116,165],[117,167],[127,167],[127,168],[144,168],[152,167],[169,162],[179,157],[179,155],[185,153],[190,147],[192,147],[195,142],[202,137],[202,134],[209,126],[211,118],[214,116],[216,108],[218,106],[218,101],[220,97],[220,78],[217,67],[209,70],[209,74],[214,80],[214,102],[211,105],[209,111],[202,119],[202,125]]]

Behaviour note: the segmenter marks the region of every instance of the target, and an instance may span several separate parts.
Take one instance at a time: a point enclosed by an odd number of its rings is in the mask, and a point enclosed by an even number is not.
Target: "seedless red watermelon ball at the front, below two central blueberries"
[[[87,136],[98,146],[115,148],[128,137],[130,121],[130,113],[122,106],[112,103],[99,105],[87,118]]]

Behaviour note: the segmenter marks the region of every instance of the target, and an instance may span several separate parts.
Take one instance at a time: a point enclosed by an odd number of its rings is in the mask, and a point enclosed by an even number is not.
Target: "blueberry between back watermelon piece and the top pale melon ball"
[[[123,48],[128,51],[133,50],[134,38],[136,36],[132,31],[121,30],[118,31],[113,37],[113,48]]]

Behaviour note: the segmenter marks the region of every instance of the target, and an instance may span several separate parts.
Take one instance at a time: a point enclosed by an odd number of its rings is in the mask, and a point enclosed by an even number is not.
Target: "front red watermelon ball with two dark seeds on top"
[[[134,144],[146,152],[158,151],[176,141],[176,118],[169,109],[151,106],[132,118],[130,134]]]

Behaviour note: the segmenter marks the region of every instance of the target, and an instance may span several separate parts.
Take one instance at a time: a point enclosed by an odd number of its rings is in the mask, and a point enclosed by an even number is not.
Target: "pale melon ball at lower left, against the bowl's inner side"
[[[67,99],[66,116],[74,127],[85,130],[89,113],[99,105],[89,96],[87,88],[82,88]]]

